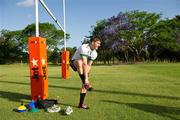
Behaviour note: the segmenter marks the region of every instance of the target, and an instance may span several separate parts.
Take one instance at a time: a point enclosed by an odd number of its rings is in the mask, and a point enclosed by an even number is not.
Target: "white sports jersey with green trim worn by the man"
[[[93,61],[97,57],[97,52],[96,50],[91,50],[89,44],[83,44],[76,50],[72,60],[79,60],[83,56],[87,57],[88,60]]]

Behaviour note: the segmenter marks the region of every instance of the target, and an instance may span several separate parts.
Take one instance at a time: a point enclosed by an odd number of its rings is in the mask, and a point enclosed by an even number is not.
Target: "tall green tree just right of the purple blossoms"
[[[125,14],[133,25],[133,29],[120,30],[119,36],[127,41],[128,48],[134,54],[134,59],[139,61],[142,52],[147,52],[147,33],[158,23],[160,14],[145,11],[131,11]]]

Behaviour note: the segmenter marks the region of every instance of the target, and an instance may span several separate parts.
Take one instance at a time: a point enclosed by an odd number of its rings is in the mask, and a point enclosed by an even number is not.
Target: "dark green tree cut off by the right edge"
[[[180,51],[180,21],[178,18],[162,20],[148,33],[148,51],[157,59],[164,52]],[[166,56],[169,57],[169,56]]]

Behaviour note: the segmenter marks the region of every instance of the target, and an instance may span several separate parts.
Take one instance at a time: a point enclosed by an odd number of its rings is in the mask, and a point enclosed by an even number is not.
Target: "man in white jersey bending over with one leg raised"
[[[79,108],[89,108],[86,104],[84,104],[86,92],[88,89],[91,89],[88,75],[93,61],[97,58],[96,50],[100,47],[100,44],[101,40],[99,37],[92,37],[89,44],[83,44],[76,50],[70,61],[71,68],[78,72],[82,80],[82,88],[80,91],[80,100],[78,105]]]

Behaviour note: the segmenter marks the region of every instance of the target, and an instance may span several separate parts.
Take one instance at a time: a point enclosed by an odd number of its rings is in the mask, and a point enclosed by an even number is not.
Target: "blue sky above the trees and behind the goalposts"
[[[0,0],[0,30],[20,30],[35,22],[34,0]],[[62,0],[44,0],[63,25]],[[162,18],[180,15],[180,0],[66,0],[67,46],[79,46],[91,26],[119,12],[140,10],[162,13]],[[40,22],[54,21],[39,4]]]

